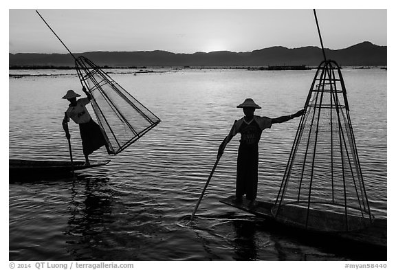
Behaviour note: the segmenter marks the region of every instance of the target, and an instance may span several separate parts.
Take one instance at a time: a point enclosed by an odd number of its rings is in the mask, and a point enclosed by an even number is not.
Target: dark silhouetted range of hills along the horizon
[[[342,66],[386,66],[386,46],[377,46],[368,41],[345,49],[325,49],[328,59],[336,60]],[[98,66],[142,67],[223,67],[223,66],[269,66],[307,65],[316,67],[323,60],[319,47],[268,47],[252,52],[197,52],[175,54],[165,51],[151,52],[85,52],[85,56]],[[54,66],[74,67],[69,54],[9,54],[9,67]]]

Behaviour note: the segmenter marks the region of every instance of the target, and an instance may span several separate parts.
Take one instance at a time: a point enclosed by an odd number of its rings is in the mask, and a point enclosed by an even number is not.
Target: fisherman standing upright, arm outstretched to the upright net
[[[257,195],[259,140],[261,133],[265,128],[271,128],[272,124],[287,122],[303,115],[304,110],[278,118],[261,117],[254,115],[254,111],[261,109],[261,106],[257,105],[252,98],[247,98],[242,104],[236,106],[236,108],[242,108],[245,116],[240,120],[235,120],[230,133],[219,146],[217,159],[223,155],[224,148],[232,137],[237,133],[241,133],[236,168],[235,203],[241,203],[242,196],[246,194],[246,199],[252,201],[252,205],[254,205]]]

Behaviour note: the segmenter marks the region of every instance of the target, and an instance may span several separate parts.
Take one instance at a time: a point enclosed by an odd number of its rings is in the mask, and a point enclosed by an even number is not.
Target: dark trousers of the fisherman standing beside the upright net
[[[239,145],[235,194],[237,198],[246,194],[246,199],[256,199],[258,170],[259,145]]]

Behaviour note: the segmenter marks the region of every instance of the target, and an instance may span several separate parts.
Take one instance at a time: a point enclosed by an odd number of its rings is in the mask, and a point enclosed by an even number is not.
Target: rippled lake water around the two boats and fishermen
[[[268,227],[261,218],[219,203],[234,194],[235,137],[214,172],[195,221],[186,221],[234,120],[254,98],[257,115],[303,109],[315,70],[161,69],[110,76],[162,122],[104,167],[76,178],[9,185],[10,260],[370,260],[314,245]],[[71,71],[10,71],[10,158],[69,160],[61,125]],[[386,70],[342,69],[366,192],[375,217],[386,218]],[[258,199],[274,201],[298,120],[263,132]],[[75,160],[83,160],[78,126],[69,124]],[[239,137],[239,136],[238,136]]]

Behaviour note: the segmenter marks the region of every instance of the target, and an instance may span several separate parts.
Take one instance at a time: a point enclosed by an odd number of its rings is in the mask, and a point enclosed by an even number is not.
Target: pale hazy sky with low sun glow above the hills
[[[248,52],[320,46],[313,10],[76,10],[39,12],[72,52]],[[387,45],[385,9],[316,10],[325,47]],[[9,52],[67,53],[35,10],[9,10]]]

